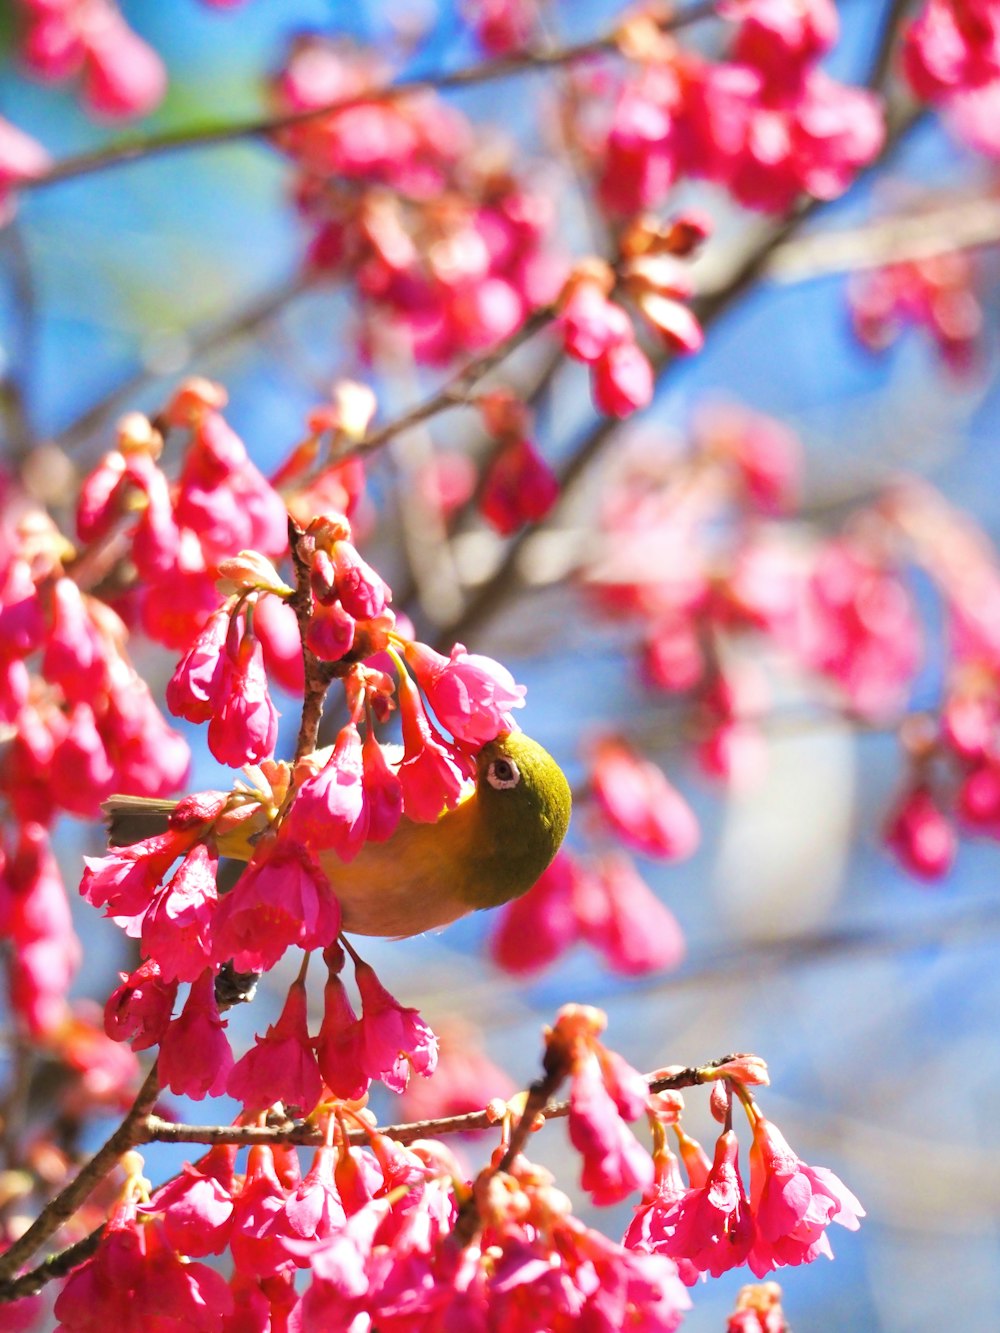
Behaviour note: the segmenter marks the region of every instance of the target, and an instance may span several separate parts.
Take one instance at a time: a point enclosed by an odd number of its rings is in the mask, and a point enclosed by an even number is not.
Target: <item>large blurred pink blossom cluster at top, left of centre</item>
[[[280,112],[357,99],[383,81],[361,53],[304,37],[273,84]],[[372,351],[400,345],[443,364],[513,333],[549,304],[565,263],[547,241],[547,193],[479,143],[433,93],[356,101],[283,129],[309,263],[349,281]]]

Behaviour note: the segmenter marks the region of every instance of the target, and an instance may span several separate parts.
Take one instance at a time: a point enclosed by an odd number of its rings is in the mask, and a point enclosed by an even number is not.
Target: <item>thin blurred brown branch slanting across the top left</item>
[[[717,0],[699,0],[699,3],[688,5],[663,23],[661,29],[664,32],[676,32],[689,24],[712,17],[716,11],[716,3]],[[319,120],[333,112],[349,111],[352,107],[361,107],[373,101],[397,101],[401,97],[420,92],[471,88],[496,79],[508,79],[515,75],[573,64],[580,60],[588,60],[592,56],[613,55],[616,52],[619,52],[617,27],[599,37],[592,37],[589,41],[580,41],[573,45],[548,51],[525,51],[519,55],[504,56],[499,60],[484,60],[463,69],[453,69],[439,75],[404,76],[388,84],[367,88],[349,97],[339,97],[323,107],[311,107],[308,111],[259,116],[228,124],[188,125],[179,129],[168,129],[159,135],[121,139],[107,148],[79,153],[75,157],[65,157],[63,161],[55,163],[43,175],[21,181],[19,189],[45,189],[64,180],[75,180],[79,176],[89,176],[93,172],[108,171],[113,167],[143,161],[149,157],[161,156],[163,153],[183,152],[192,148],[215,148],[220,144],[233,144],[243,140],[267,139],[283,129],[293,129],[296,125]]]

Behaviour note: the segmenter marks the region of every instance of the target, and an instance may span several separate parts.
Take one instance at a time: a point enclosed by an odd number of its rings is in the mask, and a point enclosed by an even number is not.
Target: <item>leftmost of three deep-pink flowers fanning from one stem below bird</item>
[[[276,1101],[308,1116],[323,1084],[307,1026],[305,986],[293,981],[277,1022],[232,1068],[225,1090],[244,1110],[265,1110]]]

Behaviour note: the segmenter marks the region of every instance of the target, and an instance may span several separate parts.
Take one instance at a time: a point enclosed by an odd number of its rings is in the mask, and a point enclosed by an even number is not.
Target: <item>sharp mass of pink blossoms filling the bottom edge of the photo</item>
[[[403,1146],[368,1110],[339,1101],[319,1122],[325,1142],[305,1170],[277,1140],[252,1146],[243,1168],[237,1148],[220,1145],[153,1190],[131,1154],[96,1253],[56,1298],[59,1328],[163,1320],[204,1333],[376,1325],[669,1333],[699,1274],[747,1265],[763,1276],[809,1262],[831,1253],[831,1224],[857,1226],[857,1200],[832,1172],[801,1161],[751,1098],[748,1088],[767,1082],[760,1060],[685,1072],[687,1082],[712,1084],[727,1125],[733,1101],[747,1110],[748,1193],[732,1129],[711,1162],[680,1128],[680,1094],[651,1097],[645,1078],[601,1042],[604,1025],[596,1009],[560,1012],[545,1034],[544,1086],[552,1093],[569,1081],[569,1141],[591,1198],[612,1204],[641,1192],[623,1242],[583,1225],[551,1173],[520,1150],[523,1098],[491,1102],[501,1138],[473,1180],[444,1144]],[[631,1129],[640,1120],[652,1126],[652,1156]],[[228,1280],[211,1264],[223,1253],[232,1257]],[[777,1318],[780,1289],[771,1282],[740,1293],[729,1326],[776,1333]]]

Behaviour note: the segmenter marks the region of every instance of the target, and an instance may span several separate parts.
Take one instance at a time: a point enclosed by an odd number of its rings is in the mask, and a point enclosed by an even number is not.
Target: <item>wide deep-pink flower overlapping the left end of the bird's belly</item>
[[[325,949],[340,930],[340,905],[305,848],[277,838],[255,854],[219,904],[215,960],[267,972],[285,949]]]

